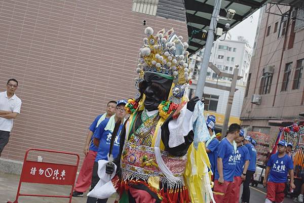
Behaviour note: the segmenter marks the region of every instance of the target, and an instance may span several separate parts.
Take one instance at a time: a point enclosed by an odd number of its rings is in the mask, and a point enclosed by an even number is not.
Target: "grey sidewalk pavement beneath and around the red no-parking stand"
[[[6,174],[0,172],[0,203],[6,203],[8,200],[14,201],[17,194],[19,175]],[[70,186],[62,185],[46,185],[22,183],[20,192],[31,194],[50,194],[50,195],[68,195]],[[73,197],[72,203],[86,203],[87,193],[84,197]],[[19,203],[67,203],[68,198],[50,198],[50,197],[30,197],[21,196],[18,199]],[[115,195],[108,199],[107,203],[113,203]]]

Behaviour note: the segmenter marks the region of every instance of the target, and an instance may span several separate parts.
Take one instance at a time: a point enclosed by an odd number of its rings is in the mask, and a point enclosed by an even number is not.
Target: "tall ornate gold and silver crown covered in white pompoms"
[[[173,95],[169,100],[180,103],[191,79],[187,63],[188,44],[182,43],[182,36],[177,36],[173,28],[167,32],[162,29],[155,36],[153,32],[151,27],[144,30],[147,37],[143,38],[143,46],[139,52],[139,64],[136,69],[139,77],[136,78],[136,88],[138,89],[145,72],[154,72],[173,80]]]

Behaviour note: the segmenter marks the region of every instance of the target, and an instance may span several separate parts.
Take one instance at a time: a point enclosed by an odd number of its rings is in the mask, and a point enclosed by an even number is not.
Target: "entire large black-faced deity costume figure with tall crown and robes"
[[[203,141],[210,135],[199,107],[203,103],[187,97],[188,45],[173,29],[154,36],[147,27],[145,34],[136,69],[139,94],[126,105],[131,115],[120,153],[115,165],[99,163],[101,183],[88,195],[106,198],[112,190],[120,203],[209,202],[210,163]]]

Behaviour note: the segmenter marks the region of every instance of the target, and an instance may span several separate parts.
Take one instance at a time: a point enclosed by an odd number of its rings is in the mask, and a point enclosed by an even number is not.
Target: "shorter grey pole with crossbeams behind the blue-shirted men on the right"
[[[236,65],[236,68],[233,71],[233,79],[231,82],[231,88],[230,88],[229,97],[228,97],[228,101],[227,101],[225,118],[224,118],[224,123],[223,123],[223,127],[222,127],[222,133],[221,133],[222,134],[221,139],[223,139],[227,133],[227,126],[229,123],[229,117],[230,117],[230,113],[231,113],[233,97],[235,94],[235,89],[236,89],[236,85],[237,85],[237,81],[238,81],[238,73],[239,73],[238,67],[239,67],[239,65]]]

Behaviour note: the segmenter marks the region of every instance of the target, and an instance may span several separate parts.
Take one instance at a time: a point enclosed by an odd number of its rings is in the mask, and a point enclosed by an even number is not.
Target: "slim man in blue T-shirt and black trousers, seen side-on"
[[[253,174],[255,173],[256,168],[256,150],[254,146],[251,144],[252,138],[250,136],[245,137],[243,144],[245,147],[247,147],[249,154],[250,154],[250,161],[249,161],[249,167],[246,173],[246,178],[243,183],[243,193],[242,193],[242,202],[249,202],[250,199],[250,188],[249,184],[251,182],[251,179],[253,177]]]

